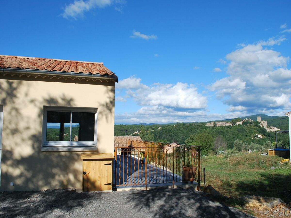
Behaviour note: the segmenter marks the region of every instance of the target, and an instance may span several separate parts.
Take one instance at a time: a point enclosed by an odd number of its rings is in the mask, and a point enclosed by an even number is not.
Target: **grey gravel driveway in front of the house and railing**
[[[156,188],[123,192],[0,192],[0,217],[252,217],[201,192]]]

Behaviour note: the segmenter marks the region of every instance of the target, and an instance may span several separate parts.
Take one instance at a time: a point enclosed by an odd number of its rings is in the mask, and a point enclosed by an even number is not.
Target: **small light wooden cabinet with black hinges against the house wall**
[[[111,153],[83,153],[83,192],[112,190]]]

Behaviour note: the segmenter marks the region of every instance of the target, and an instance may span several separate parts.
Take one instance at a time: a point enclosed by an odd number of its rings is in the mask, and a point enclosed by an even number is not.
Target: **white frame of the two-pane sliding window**
[[[47,141],[47,112],[70,112],[70,141]],[[74,142],[72,141],[72,112],[95,112],[94,125],[94,142]],[[97,108],[81,108],[81,107],[62,107],[62,106],[44,106],[42,119],[42,146],[97,146]]]

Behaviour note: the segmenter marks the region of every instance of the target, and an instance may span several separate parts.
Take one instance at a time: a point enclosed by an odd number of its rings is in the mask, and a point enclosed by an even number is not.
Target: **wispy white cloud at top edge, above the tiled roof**
[[[112,4],[124,4],[125,1],[117,0],[75,0],[73,3],[66,5],[62,16],[66,19],[77,19],[79,16],[84,16],[84,12],[87,12],[94,8],[105,8]],[[117,10],[118,7],[115,8]],[[121,10],[121,9],[120,9]]]

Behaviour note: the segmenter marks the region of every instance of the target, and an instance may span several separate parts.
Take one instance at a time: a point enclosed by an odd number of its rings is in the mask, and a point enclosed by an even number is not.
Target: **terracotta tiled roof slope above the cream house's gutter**
[[[0,67],[116,76],[98,62],[0,55]]]

